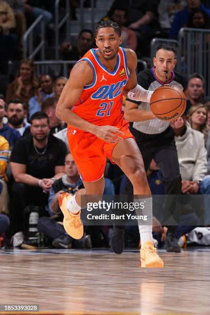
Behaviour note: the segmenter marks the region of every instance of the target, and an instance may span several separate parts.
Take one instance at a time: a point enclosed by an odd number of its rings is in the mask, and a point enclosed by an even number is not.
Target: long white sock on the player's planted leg
[[[141,238],[141,247],[144,247],[144,244],[151,240],[152,241],[152,197],[144,199],[134,199],[134,202],[139,204],[144,204],[144,208],[135,209],[137,216],[147,216],[145,225],[142,225],[143,220],[138,220],[138,230]]]

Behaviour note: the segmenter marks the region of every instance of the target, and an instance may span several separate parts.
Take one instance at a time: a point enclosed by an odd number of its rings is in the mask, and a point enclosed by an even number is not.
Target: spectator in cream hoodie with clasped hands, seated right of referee
[[[196,107],[197,105],[195,105]],[[182,116],[184,124],[175,128],[176,146],[182,176],[182,193],[185,195],[204,195],[204,224],[210,223],[210,176],[205,176],[207,169],[204,135],[186,124],[186,116]]]

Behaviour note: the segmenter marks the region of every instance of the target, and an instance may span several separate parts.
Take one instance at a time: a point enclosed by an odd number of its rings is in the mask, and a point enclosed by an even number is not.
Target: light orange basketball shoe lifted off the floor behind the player
[[[61,194],[59,198],[59,206],[64,216],[63,227],[68,235],[75,239],[80,239],[83,236],[83,224],[80,219],[81,211],[79,211],[76,215],[69,213],[68,209],[66,208],[66,202],[69,198],[72,198],[72,196],[68,193]]]

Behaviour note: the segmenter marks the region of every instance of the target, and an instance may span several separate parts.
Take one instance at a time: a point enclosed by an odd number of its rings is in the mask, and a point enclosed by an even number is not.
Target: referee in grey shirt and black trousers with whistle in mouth
[[[154,91],[159,86],[170,84],[185,91],[187,88],[187,78],[184,74],[174,71],[177,63],[176,50],[170,45],[160,45],[156,49],[153,58],[153,68],[142,71],[137,76],[137,82],[144,89]],[[176,209],[177,197],[171,195],[181,195],[181,176],[174,132],[170,123],[151,117],[150,104],[148,101],[136,101],[132,97],[126,101],[125,118],[132,121],[130,131],[136,139],[144,161],[145,170],[148,169],[152,159],[159,166],[164,179],[165,186],[165,207],[163,211],[163,224],[171,212],[174,221],[179,223],[179,206]],[[183,125],[182,118],[171,122],[175,128]],[[123,194],[132,194],[133,187],[128,184]],[[169,195],[169,196],[168,196]],[[176,224],[174,222],[174,224]],[[111,247],[117,254],[124,248],[124,226],[115,226],[111,239]],[[168,252],[180,252],[181,249],[174,233],[176,225],[168,226],[168,235],[165,241],[165,249]]]

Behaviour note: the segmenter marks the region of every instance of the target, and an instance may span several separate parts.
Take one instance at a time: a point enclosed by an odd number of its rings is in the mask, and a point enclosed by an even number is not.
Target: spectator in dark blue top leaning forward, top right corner
[[[204,5],[202,5],[201,0],[187,0],[186,7],[183,10],[177,12],[177,14],[174,16],[174,20],[169,33],[170,38],[178,39],[180,29],[187,26],[190,13],[194,9],[201,9],[205,11],[208,16],[210,16],[210,9],[207,9]]]

